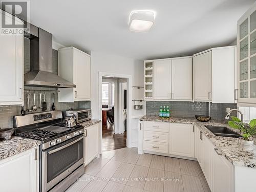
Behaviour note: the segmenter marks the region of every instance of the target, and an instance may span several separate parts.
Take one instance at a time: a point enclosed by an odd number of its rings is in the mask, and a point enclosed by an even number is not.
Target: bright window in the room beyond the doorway
[[[109,107],[115,105],[115,83],[102,82],[102,104]]]

